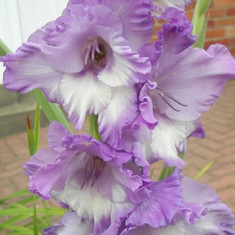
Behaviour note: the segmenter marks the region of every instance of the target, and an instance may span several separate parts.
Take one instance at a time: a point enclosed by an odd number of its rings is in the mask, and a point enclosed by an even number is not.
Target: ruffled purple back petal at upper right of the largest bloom
[[[108,7],[121,19],[123,37],[137,51],[143,44],[149,43],[153,34],[153,21],[151,18],[152,3],[150,0],[70,0],[70,4],[86,4],[97,6],[101,4]]]

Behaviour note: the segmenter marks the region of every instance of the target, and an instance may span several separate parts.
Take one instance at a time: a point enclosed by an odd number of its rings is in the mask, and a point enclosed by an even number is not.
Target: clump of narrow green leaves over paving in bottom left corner
[[[14,235],[41,234],[39,231],[50,225],[50,219],[62,216],[65,212],[60,207],[47,207],[44,203],[45,206],[38,196],[32,195],[27,189],[2,198],[0,232],[7,231],[7,234]]]

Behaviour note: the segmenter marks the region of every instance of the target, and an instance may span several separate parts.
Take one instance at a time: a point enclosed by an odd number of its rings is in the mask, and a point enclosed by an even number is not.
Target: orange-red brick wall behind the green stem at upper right
[[[194,3],[186,8],[186,15],[191,20]],[[226,45],[235,56],[235,0],[212,0],[208,10],[208,28],[206,33],[205,49],[210,44],[221,43]],[[159,25],[155,25],[155,32]],[[153,39],[156,39],[154,36]]]

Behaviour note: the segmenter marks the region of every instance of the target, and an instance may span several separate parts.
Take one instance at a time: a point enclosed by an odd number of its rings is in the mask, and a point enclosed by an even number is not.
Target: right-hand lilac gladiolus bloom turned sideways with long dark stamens
[[[144,149],[150,163],[163,159],[167,166],[182,168],[185,163],[178,152],[184,152],[190,135],[204,135],[199,118],[220,96],[226,81],[235,77],[235,60],[219,44],[207,51],[192,48],[192,25],[182,12],[168,8],[164,17],[169,23],[158,33],[159,41],[140,50],[150,54],[153,69],[151,80],[140,89],[142,115],[136,124],[148,128],[134,130],[137,141],[131,149]]]

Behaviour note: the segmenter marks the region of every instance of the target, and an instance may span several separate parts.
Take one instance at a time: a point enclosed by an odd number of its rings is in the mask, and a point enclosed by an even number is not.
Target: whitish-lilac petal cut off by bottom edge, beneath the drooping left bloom
[[[93,223],[81,219],[75,212],[66,212],[58,224],[46,228],[44,235],[92,235]]]

